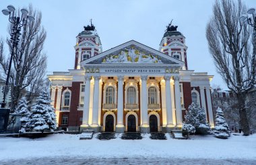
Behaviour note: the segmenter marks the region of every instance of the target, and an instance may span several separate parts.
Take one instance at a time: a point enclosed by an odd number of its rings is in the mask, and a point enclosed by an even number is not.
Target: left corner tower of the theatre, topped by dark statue
[[[102,53],[102,45],[95,26],[84,26],[84,31],[76,37],[75,69],[81,69],[80,62]]]

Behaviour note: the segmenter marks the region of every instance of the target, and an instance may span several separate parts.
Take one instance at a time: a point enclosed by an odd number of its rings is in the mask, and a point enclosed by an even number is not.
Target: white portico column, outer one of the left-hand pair
[[[85,76],[86,78],[86,87],[84,89],[84,111],[83,111],[83,123],[82,125],[88,127],[88,121],[89,121],[89,106],[90,106],[90,79],[91,77],[89,75]]]

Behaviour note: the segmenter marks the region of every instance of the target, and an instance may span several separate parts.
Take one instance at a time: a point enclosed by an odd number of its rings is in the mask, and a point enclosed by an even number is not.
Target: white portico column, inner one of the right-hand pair
[[[172,123],[172,98],[170,94],[170,76],[164,76],[165,79],[165,93],[166,93],[166,114],[167,114],[167,127],[171,127]]]

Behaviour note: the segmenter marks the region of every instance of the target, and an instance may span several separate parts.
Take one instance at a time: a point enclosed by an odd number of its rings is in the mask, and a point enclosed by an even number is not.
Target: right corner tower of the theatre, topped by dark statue
[[[159,51],[185,62],[184,70],[187,70],[187,46],[185,36],[177,31],[178,26],[172,26],[172,22],[166,26],[166,32],[161,40]]]

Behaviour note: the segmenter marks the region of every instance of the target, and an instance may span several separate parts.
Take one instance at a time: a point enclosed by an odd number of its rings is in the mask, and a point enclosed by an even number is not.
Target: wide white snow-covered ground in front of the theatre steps
[[[21,158],[212,158],[256,159],[256,134],[232,135],[217,139],[213,135],[191,136],[191,139],[152,140],[149,134],[141,140],[120,138],[100,141],[79,140],[79,135],[53,134],[39,139],[0,138],[0,161]],[[119,135],[120,136],[120,135]]]

